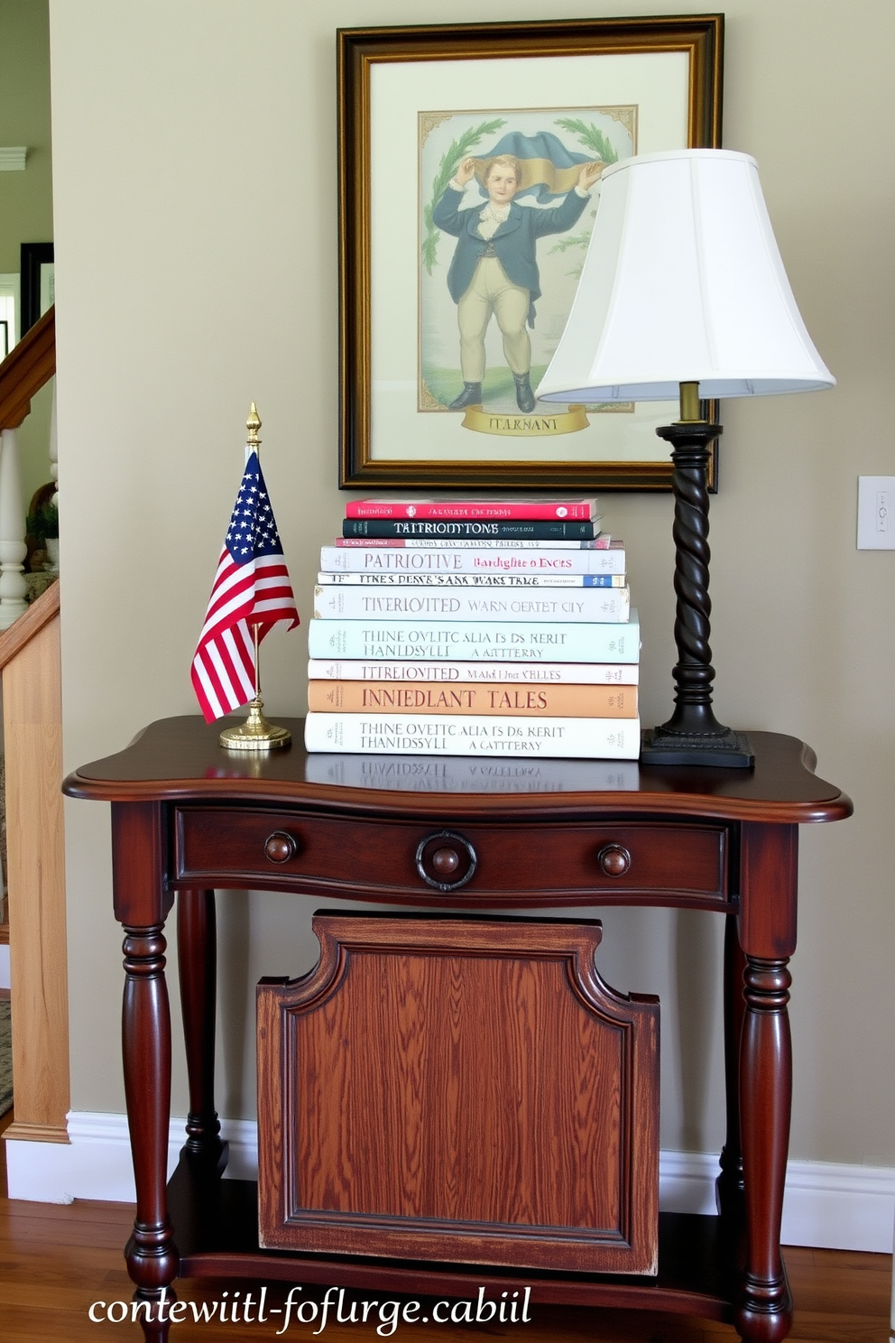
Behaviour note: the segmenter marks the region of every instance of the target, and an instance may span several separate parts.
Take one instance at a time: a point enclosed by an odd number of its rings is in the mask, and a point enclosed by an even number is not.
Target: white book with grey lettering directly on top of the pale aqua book
[[[628,588],[581,588],[560,591],[539,588],[537,592],[507,591],[503,587],[480,588],[389,588],[333,587],[314,588],[317,620],[538,620],[600,623],[627,622],[631,615]]]

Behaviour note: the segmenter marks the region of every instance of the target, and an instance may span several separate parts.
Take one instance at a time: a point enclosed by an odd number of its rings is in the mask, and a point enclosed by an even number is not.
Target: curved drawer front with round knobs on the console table
[[[605,821],[519,825],[176,808],[173,882],[415,904],[581,898],[726,904],[729,829]]]

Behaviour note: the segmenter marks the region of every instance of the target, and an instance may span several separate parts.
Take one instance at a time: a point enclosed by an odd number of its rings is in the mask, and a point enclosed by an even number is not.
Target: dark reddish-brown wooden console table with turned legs
[[[239,1276],[675,1311],[777,1343],[792,1303],[780,1250],[792,1057],[797,826],[851,803],[793,737],[754,733],[750,771],[631,763],[227,755],[219,725],[154,723],[85,766],[70,796],[111,802],[115,917],[125,928],[123,1070],[137,1183],[126,1248],[137,1295],[184,1276]],[[672,905],[726,917],[727,1132],[718,1217],[660,1214],[656,1277],[260,1250],[255,1186],[221,1180],[213,1101],[213,888],[413,905],[549,909]],[[168,912],[177,893],[189,1117],[165,1183],[170,1018]],[[144,1324],[164,1339],[166,1324]]]

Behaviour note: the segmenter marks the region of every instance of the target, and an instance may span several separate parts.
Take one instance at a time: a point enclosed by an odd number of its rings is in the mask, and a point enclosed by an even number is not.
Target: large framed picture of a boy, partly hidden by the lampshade
[[[721,144],[722,44],[722,15],[339,30],[342,488],[670,489],[676,403],[535,393],[600,173]]]

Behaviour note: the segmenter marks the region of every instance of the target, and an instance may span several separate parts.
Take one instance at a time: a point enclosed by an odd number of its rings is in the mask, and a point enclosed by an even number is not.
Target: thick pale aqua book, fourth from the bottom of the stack
[[[427,662],[639,662],[636,612],[624,624],[495,624],[487,620],[318,620],[311,658],[400,658]]]

